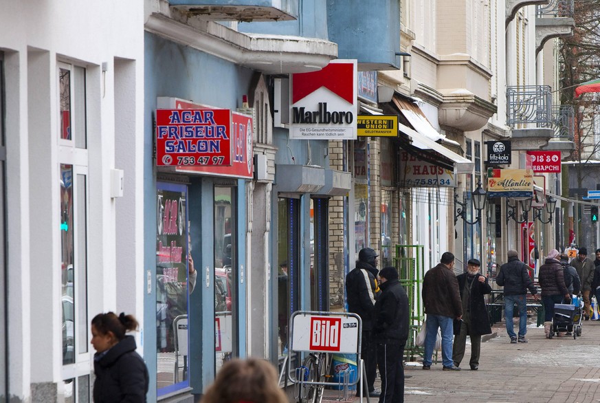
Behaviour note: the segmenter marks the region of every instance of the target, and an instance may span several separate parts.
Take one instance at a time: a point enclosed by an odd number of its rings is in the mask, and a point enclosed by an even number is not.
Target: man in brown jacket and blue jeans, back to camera
[[[423,369],[430,369],[438,328],[442,334],[442,362],[444,371],[460,371],[452,360],[452,335],[454,319],[463,318],[458,281],[454,275],[454,254],[444,252],[440,263],[427,270],[423,279],[423,305],[427,314],[427,334]]]

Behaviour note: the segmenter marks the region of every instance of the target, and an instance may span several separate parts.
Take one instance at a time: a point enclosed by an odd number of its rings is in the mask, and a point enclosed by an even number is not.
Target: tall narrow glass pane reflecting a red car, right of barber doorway
[[[236,188],[214,186],[214,362],[237,356]]]

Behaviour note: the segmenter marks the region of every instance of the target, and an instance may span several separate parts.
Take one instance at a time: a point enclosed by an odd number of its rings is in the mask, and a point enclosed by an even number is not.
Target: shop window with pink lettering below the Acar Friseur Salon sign
[[[189,384],[188,295],[196,284],[189,282],[187,199],[186,186],[157,183],[156,386],[159,396]]]

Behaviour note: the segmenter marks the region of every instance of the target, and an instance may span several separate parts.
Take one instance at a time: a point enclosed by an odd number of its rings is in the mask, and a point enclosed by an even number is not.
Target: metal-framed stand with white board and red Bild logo
[[[340,394],[337,400],[348,399],[348,389],[357,385],[360,390],[360,401],[363,402],[364,362],[360,357],[362,335],[362,321],[357,314],[349,312],[314,312],[296,311],[289,319],[289,352],[285,357],[279,375],[281,383],[283,375],[287,371],[287,379],[294,384],[294,399],[300,402],[320,402],[322,393],[316,393],[307,399],[306,391],[310,388],[322,386],[338,387]],[[307,380],[307,368],[291,368],[292,360],[289,359],[294,353],[308,353],[322,357],[322,353],[347,353],[357,356],[357,377],[350,380],[350,368],[341,375],[341,382],[325,382],[324,380]],[[301,362],[301,361],[300,361]],[[370,402],[368,395],[367,402]],[[328,399],[329,400],[329,399]]]

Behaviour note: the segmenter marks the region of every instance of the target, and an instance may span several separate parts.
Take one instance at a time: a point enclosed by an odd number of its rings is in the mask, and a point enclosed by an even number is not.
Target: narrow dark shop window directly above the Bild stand
[[[311,310],[329,311],[329,199],[311,199]]]

